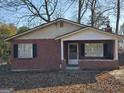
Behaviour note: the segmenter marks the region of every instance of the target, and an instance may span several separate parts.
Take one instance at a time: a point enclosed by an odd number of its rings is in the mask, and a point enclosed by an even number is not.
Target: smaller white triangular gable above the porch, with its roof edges
[[[124,37],[108,33],[93,27],[85,27],[80,30],[56,37],[63,40],[113,40],[124,39]]]

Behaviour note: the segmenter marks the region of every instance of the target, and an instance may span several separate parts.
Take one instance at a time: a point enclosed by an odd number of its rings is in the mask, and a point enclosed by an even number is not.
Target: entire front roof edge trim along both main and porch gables
[[[73,22],[73,21],[70,21],[70,20],[67,20],[67,19],[64,19],[64,18],[58,18],[58,19],[55,19],[49,23],[44,23],[42,25],[39,25],[37,27],[34,27],[32,29],[29,29],[28,31],[26,32],[23,32],[23,33],[20,33],[20,34],[16,34],[16,35],[13,35],[11,37],[8,37],[7,39],[5,39],[5,41],[9,41],[9,40],[12,40],[14,38],[17,38],[17,37],[20,37],[20,36],[23,36],[23,35],[26,35],[26,34],[29,34],[33,31],[36,31],[37,29],[42,29],[42,28],[45,28],[53,23],[56,23],[56,22],[67,22],[67,23],[70,23],[70,24],[73,24],[73,25],[76,25],[76,26],[79,26],[80,29],[78,30],[74,30],[74,31],[71,31],[71,32],[67,32],[67,33],[64,33],[62,35],[58,35],[57,37],[55,37],[55,39],[61,39],[61,38],[64,38],[64,37],[67,37],[67,36],[70,36],[70,35],[73,35],[73,34],[76,34],[78,32],[81,32],[81,31],[85,31],[86,29],[89,29],[89,28],[92,28],[92,29],[96,29],[95,31],[97,32],[101,32],[103,34],[107,34],[107,35],[110,35],[110,36],[114,36],[114,37],[117,37],[117,38],[123,38],[124,39],[124,36],[121,36],[121,35],[117,35],[117,34],[114,34],[114,33],[109,33],[109,32],[105,32],[101,29],[98,29],[98,28],[95,28],[95,27],[90,27],[90,26],[86,26],[86,25],[83,25],[83,24],[78,24],[76,22]]]

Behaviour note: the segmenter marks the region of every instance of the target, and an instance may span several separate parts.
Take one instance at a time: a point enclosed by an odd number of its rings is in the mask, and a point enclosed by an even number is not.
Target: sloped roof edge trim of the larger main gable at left
[[[49,25],[51,25],[51,24],[53,24],[53,23],[60,22],[60,21],[64,21],[64,22],[67,22],[67,23],[70,23],[70,24],[73,24],[73,25],[77,25],[77,26],[80,26],[80,27],[86,26],[86,25],[83,25],[83,24],[78,24],[77,22],[74,22],[74,21],[70,21],[70,20],[68,20],[68,19],[58,18],[58,19],[55,19],[55,20],[53,20],[53,21],[51,21],[51,22],[49,22],[49,23],[44,23],[44,24],[42,24],[42,25],[39,25],[39,26],[34,27],[34,28],[32,28],[32,29],[29,29],[28,31],[25,31],[25,32],[23,32],[23,33],[10,36],[10,37],[6,38],[5,41],[9,41],[9,40],[11,40],[11,39],[14,39],[14,38],[17,38],[17,37],[26,35],[26,34],[31,33],[31,32],[33,32],[33,31],[35,31],[35,30],[37,30],[37,29],[44,28],[44,27],[46,27],[46,26],[49,26]]]

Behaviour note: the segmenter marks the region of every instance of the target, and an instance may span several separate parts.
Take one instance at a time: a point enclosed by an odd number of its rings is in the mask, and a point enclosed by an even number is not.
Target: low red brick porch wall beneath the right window
[[[114,60],[80,60],[81,69],[115,69],[118,68],[118,62]]]

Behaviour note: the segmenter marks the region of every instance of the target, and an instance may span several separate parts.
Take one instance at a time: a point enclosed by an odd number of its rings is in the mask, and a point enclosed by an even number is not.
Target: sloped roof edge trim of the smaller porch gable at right
[[[100,32],[102,34],[106,34],[106,35],[109,35],[109,36],[117,37],[119,39],[124,39],[124,36],[122,36],[122,35],[117,35],[115,33],[105,32],[104,30],[101,30],[101,29],[98,29],[98,28],[95,28],[95,27],[91,27],[91,26],[86,26],[86,27],[81,28],[81,29],[78,29],[76,31],[72,31],[72,32],[66,33],[64,35],[61,35],[61,36],[56,37],[55,39],[56,40],[57,39],[62,39],[62,38],[65,38],[67,36],[71,36],[73,34],[79,33],[81,31],[86,31],[87,29],[95,29],[94,31],[96,31],[96,32]]]

